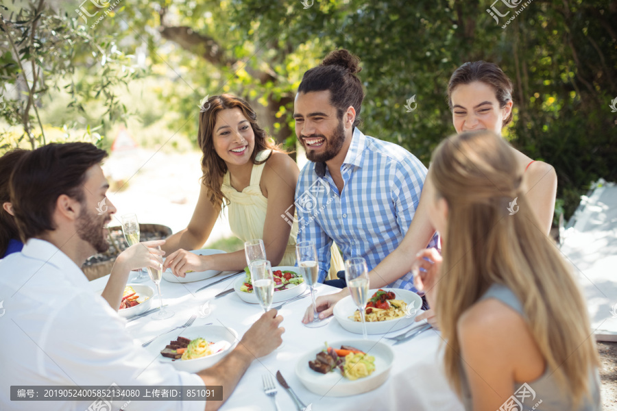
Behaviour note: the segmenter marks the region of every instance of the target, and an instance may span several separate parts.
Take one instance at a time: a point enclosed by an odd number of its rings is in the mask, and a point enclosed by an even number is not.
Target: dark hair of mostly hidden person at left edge
[[[3,204],[11,201],[9,190],[11,173],[26,153],[27,150],[14,149],[0,157],[0,258],[6,253],[9,241],[19,238],[15,217],[4,210]]]

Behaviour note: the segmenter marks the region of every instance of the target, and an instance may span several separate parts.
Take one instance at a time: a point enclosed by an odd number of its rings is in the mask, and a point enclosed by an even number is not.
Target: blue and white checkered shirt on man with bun
[[[345,260],[363,257],[369,270],[398,247],[418,208],[426,167],[402,147],[354,128],[341,175],[339,193],[326,164],[309,162],[295,188],[298,242],[315,241],[319,282],[330,269],[332,240]],[[389,286],[415,290],[411,271]]]

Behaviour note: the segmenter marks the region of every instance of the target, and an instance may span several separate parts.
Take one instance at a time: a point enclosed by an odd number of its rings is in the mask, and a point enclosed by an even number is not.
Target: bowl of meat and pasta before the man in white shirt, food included
[[[220,325],[178,329],[176,334],[156,338],[147,350],[158,360],[180,371],[197,373],[213,366],[236,347],[238,333]]]

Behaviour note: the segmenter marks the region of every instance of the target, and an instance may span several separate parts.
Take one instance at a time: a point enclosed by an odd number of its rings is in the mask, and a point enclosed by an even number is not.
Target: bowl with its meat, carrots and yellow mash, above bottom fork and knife
[[[320,358],[332,362],[329,358],[336,356],[339,360],[335,360],[330,370],[315,366]],[[295,366],[295,374],[309,391],[317,395],[347,397],[378,388],[388,379],[393,363],[394,351],[384,343],[341,340],[328,342],[304,354]]]

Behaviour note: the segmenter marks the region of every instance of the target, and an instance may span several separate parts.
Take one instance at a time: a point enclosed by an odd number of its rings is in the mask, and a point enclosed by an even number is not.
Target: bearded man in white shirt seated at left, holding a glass
[[[99,165],[105,156],[87,143],[51,144],[25,155],[12,175],[25,245],[0,260],[0,409],[92,409],[92,401],[11,401],[10,386],[117,384],[223,386],[223,401],[132,401],[125,408],[217,410],[252,360],[280,345],[282,317],[276,310],[263,314],[228,356],[197,374],[176,371],[134,345],[123,319],[90,290],[80,269],[108,248],[104,227],[116,209],[107,202],[107,213],[96,212],[109,188]]]

